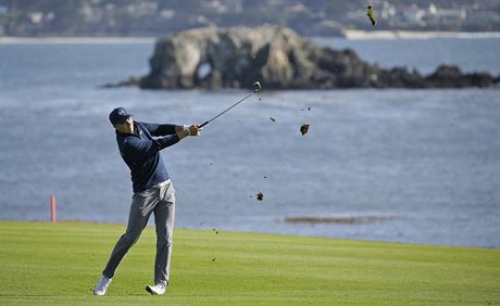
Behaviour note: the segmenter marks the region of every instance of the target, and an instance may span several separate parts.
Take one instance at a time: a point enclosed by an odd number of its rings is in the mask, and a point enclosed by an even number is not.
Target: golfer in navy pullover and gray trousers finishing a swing
[[[130,168],[134,196],[127,229],[116,242],[93,294],[105,294],[120,262],[139,239],[151,214],[154,214],[157,225],[157,258],[154,284],[148,285],[146,290],[151,294],[163,294],[168,285],[175,195],[160,151],[187,136],[199,136],[201,128],[198,125],[134,122],[132,115],[123,107],[114,109],[110,114],[110,120],[116,130],[120,154]]]

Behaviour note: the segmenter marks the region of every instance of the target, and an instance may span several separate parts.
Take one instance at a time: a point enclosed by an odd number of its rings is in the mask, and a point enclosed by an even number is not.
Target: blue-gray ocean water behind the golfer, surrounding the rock
[[[426,73],[447,62],[500,73],[495,39],[403,42],[321,41],[382,66]],[[0,44],[0,219],[49,220],[54,194],[59,219],[125,225],[132,183],[109,112],[121,105],[138,120],[201,123],[248,94],[99,88],[145,75],[152,50]],[[263,84],[259,98],[162,152],[176,227],[500,247],[498,88],[268,92]]]

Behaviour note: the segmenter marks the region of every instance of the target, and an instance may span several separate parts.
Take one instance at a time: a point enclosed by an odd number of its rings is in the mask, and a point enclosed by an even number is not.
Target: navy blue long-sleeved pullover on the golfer
[[[120,154],[130,168],[134,193],[168,179],[160,150],[178,141],[175,125],[134,122],[133,133],[116,131]]]

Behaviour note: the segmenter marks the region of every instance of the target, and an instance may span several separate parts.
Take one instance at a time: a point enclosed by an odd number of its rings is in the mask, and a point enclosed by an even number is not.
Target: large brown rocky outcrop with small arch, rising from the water
[[[205,27],[160,39],[143,89],[463,88],[491,87],[500,76],[464,74],[441,65],[423,76],[404,67],[380,68],[351,50],[315,46],[290,28]],[[127,82],[129,85],[129,82]]]

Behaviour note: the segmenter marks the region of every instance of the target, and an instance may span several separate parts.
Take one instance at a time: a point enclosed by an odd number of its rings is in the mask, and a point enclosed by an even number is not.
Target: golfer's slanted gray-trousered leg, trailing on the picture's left
[[[118,239],[116,245],[111,253],[110,259],[105,265],[102,273],[112,278],[120,262],[122,262],[125,254],[127,254],[134,243],[139,239],[140,233],[148,224],[149,216],[153,212],[154,204],[158,202],[158,193],[149,192],[147,190],[142,193],[134,194],[130,213],[128,215],[128,226],[125,233]]]

